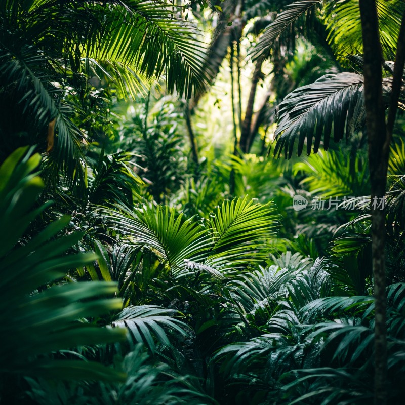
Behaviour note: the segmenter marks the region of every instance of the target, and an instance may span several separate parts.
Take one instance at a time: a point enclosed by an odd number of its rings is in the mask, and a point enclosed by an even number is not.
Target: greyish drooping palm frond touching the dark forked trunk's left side
[[[391,79],[383,79],[383,90],[390,93]],[[323,135],[323,148],[329,148],[331,133],[334,141],[347,139],[352,131],[365,122],[363,76],[356,73],[325,75],[315,83],[290,93],[279,106],[275,131],[274,155],[284,149],[291,157],[298,138],[298,155],[306,140],[307,155],[316,153]]]

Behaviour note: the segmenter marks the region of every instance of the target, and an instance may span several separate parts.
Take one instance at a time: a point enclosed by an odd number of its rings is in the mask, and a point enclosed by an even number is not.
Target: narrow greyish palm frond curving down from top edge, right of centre
[[[253,51],[253,57],[267,57],[277,37],[290,28],[300,16],[321,2],[322,0],[299,0],[288,5],[283,12],[277,15],[274,22],[265,29]]]

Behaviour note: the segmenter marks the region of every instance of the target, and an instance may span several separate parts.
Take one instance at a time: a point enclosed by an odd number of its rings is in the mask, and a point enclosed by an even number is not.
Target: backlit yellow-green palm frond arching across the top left
[[[5,15],[14,2],[9,3]],[[169,91],[188,97],[194,88],[204,86],[209,73],[202,69],[204,42],[192,23],[179,18],[180,9],[171,3],[38,0],[27,6],[20,9],[17,21],[32,24],[38,35],[34,40],[49,44],[53,39],[55,49],[70,54],[72,69],[79,67],[82,58],[92,58],[98,63],[118,63],[115,68],[129,66],[146,77],[164,74]],[[43,23],[34,28],[39,20]]]

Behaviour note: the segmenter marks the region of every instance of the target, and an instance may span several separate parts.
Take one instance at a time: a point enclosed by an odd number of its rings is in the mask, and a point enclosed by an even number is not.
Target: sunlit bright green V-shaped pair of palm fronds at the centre
[[[248,196],[224,201],[204,221],[161,206],[99,211],[106,225],[127,234],[134,246],[153,251],[173,275],[189,267],[190,260],[217,270],[263,262],[268,249],[261,242],[274,236],[278,225],[273,205],[258,204]]]

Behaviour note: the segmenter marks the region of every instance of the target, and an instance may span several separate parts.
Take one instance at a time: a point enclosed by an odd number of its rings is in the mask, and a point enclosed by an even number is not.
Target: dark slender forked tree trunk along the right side
[[[382,94],[382,50],[379,36],[378,14],[375,0],[359,0],[361,30],[364,47],[364,81],[369,144],[369,165],[372,199],[372,257],[375,297],[375,378],[374,404],[387,403],[387,330],[385,292],[385,211],[374,201],[382,201],[387,182],[389,147],[392,138],[399,90],[405,61],[405,23],[402,18],[398,51],[395,61],[393,90],[385,123],[385,106]],[[405,17],[405,15],[404,15]]]

